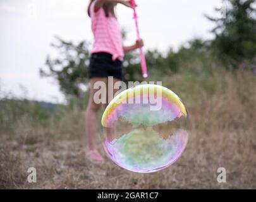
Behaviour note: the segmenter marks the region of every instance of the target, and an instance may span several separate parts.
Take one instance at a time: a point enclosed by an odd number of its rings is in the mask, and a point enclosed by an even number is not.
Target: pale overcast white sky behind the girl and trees
[[[205,14],[216,16],[221,0],[137,0],[145,49],[177,50],[195,37],[212,39],[214,27]],[[63,103],[58,83],[40,78],[47,55],[56,56],[54,37],[93,42],[88,0],[0,0],[0,98]],[[118,21],[128,31],[125,44],[135,42],[133,11],[119,5]]]

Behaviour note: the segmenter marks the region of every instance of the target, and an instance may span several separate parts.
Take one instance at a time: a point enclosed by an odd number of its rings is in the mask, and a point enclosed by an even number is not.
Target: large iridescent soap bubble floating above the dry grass
[[[165,169],[188,141],[185,105],[160,85],[138,85],[119,93],[104,111],[102,126],[107,155],[132,172]]]

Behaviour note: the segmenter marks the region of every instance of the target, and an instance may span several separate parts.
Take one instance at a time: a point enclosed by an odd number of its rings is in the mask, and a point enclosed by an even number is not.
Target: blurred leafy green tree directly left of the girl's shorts
[[[40,68],[40,76],[55,78],[67,98],[80,98],[88,84],[89,44],[83,41],[75,45],[58,37],[56,39],[52,47],[58,50],[59,55],[54,59],[47,56],[47,70]]]

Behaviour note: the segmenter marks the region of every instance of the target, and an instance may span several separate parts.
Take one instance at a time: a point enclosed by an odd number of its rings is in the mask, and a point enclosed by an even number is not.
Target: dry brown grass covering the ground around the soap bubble
[[[165,78],[163,84],[183,98],[190,113],[188,146],[168,169],[135,174],[110,160],[92,165],[85,159],[83,113],[75,109],[47,127],[31,127],[26,117],[20,117],[13,124],[15,134],[0,129],[0,187],[255,189],[255,75],[178,74],[171,81]],[[37,169],[35,184],[27,182],[28,167]],[[217,182],[218,167],[226,168],[226,183]]]

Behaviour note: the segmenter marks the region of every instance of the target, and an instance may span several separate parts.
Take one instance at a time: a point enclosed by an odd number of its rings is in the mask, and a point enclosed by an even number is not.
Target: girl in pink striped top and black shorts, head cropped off
[[[115,8],[117,4],[123,4],[132,8],[127,0],[91,0],[88,6],[88,15],[92,20],[92,32],[94,33],[94,46],[88,76],[90,78],[90,98],[85,113],[85,131],[87,134],[87,158],[94,163],[104,162],[104,158],[96,149],[97,112],[101,104],[94,100],[94,84],[102,81],[106,84],[107,78],[113,76],[114,83],[121,81],[123,77],[122,61],[125,52],[138,49],[143,46],[142,40],[137,40],[134,45],[123,46],[121,28],[116,19]],[[113,93],[117,90],[113,89]],[[106,100],[108,92],[106,92]],[[107,100],[109,103],[111,100]],[[106,107],[106,105],[104,106]]]

